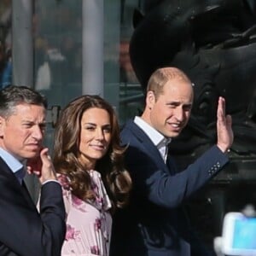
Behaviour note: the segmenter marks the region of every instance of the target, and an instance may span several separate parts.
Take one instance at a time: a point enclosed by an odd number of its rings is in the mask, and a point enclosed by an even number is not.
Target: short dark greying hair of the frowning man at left
[[[26,103],[47,108],[47,100],[38,91],[26,86],[9,85],[0,90],[0,115],[9,116],[15,107]]]

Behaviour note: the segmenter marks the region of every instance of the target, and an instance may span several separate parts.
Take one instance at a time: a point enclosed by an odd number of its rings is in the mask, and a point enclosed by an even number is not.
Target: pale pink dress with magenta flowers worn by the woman
[[[58,177],[67,213],[67,233],[61,256],[108,256],[112,218],[111,202],[99,172],[90,171],[96,201],[82,201],[72,195],[68,178]]]

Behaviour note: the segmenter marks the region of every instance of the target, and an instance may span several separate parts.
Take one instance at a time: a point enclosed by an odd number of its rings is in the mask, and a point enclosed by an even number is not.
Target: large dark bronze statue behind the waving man
[[[143,7],[134,13],[130,43],[143,90],[158,67],[179,67],[195,84],[189,125],[172,152],[189,155],[215,142],[224,96],[235,134],[231,152],[255,159],[256,1],[145,0]]]

